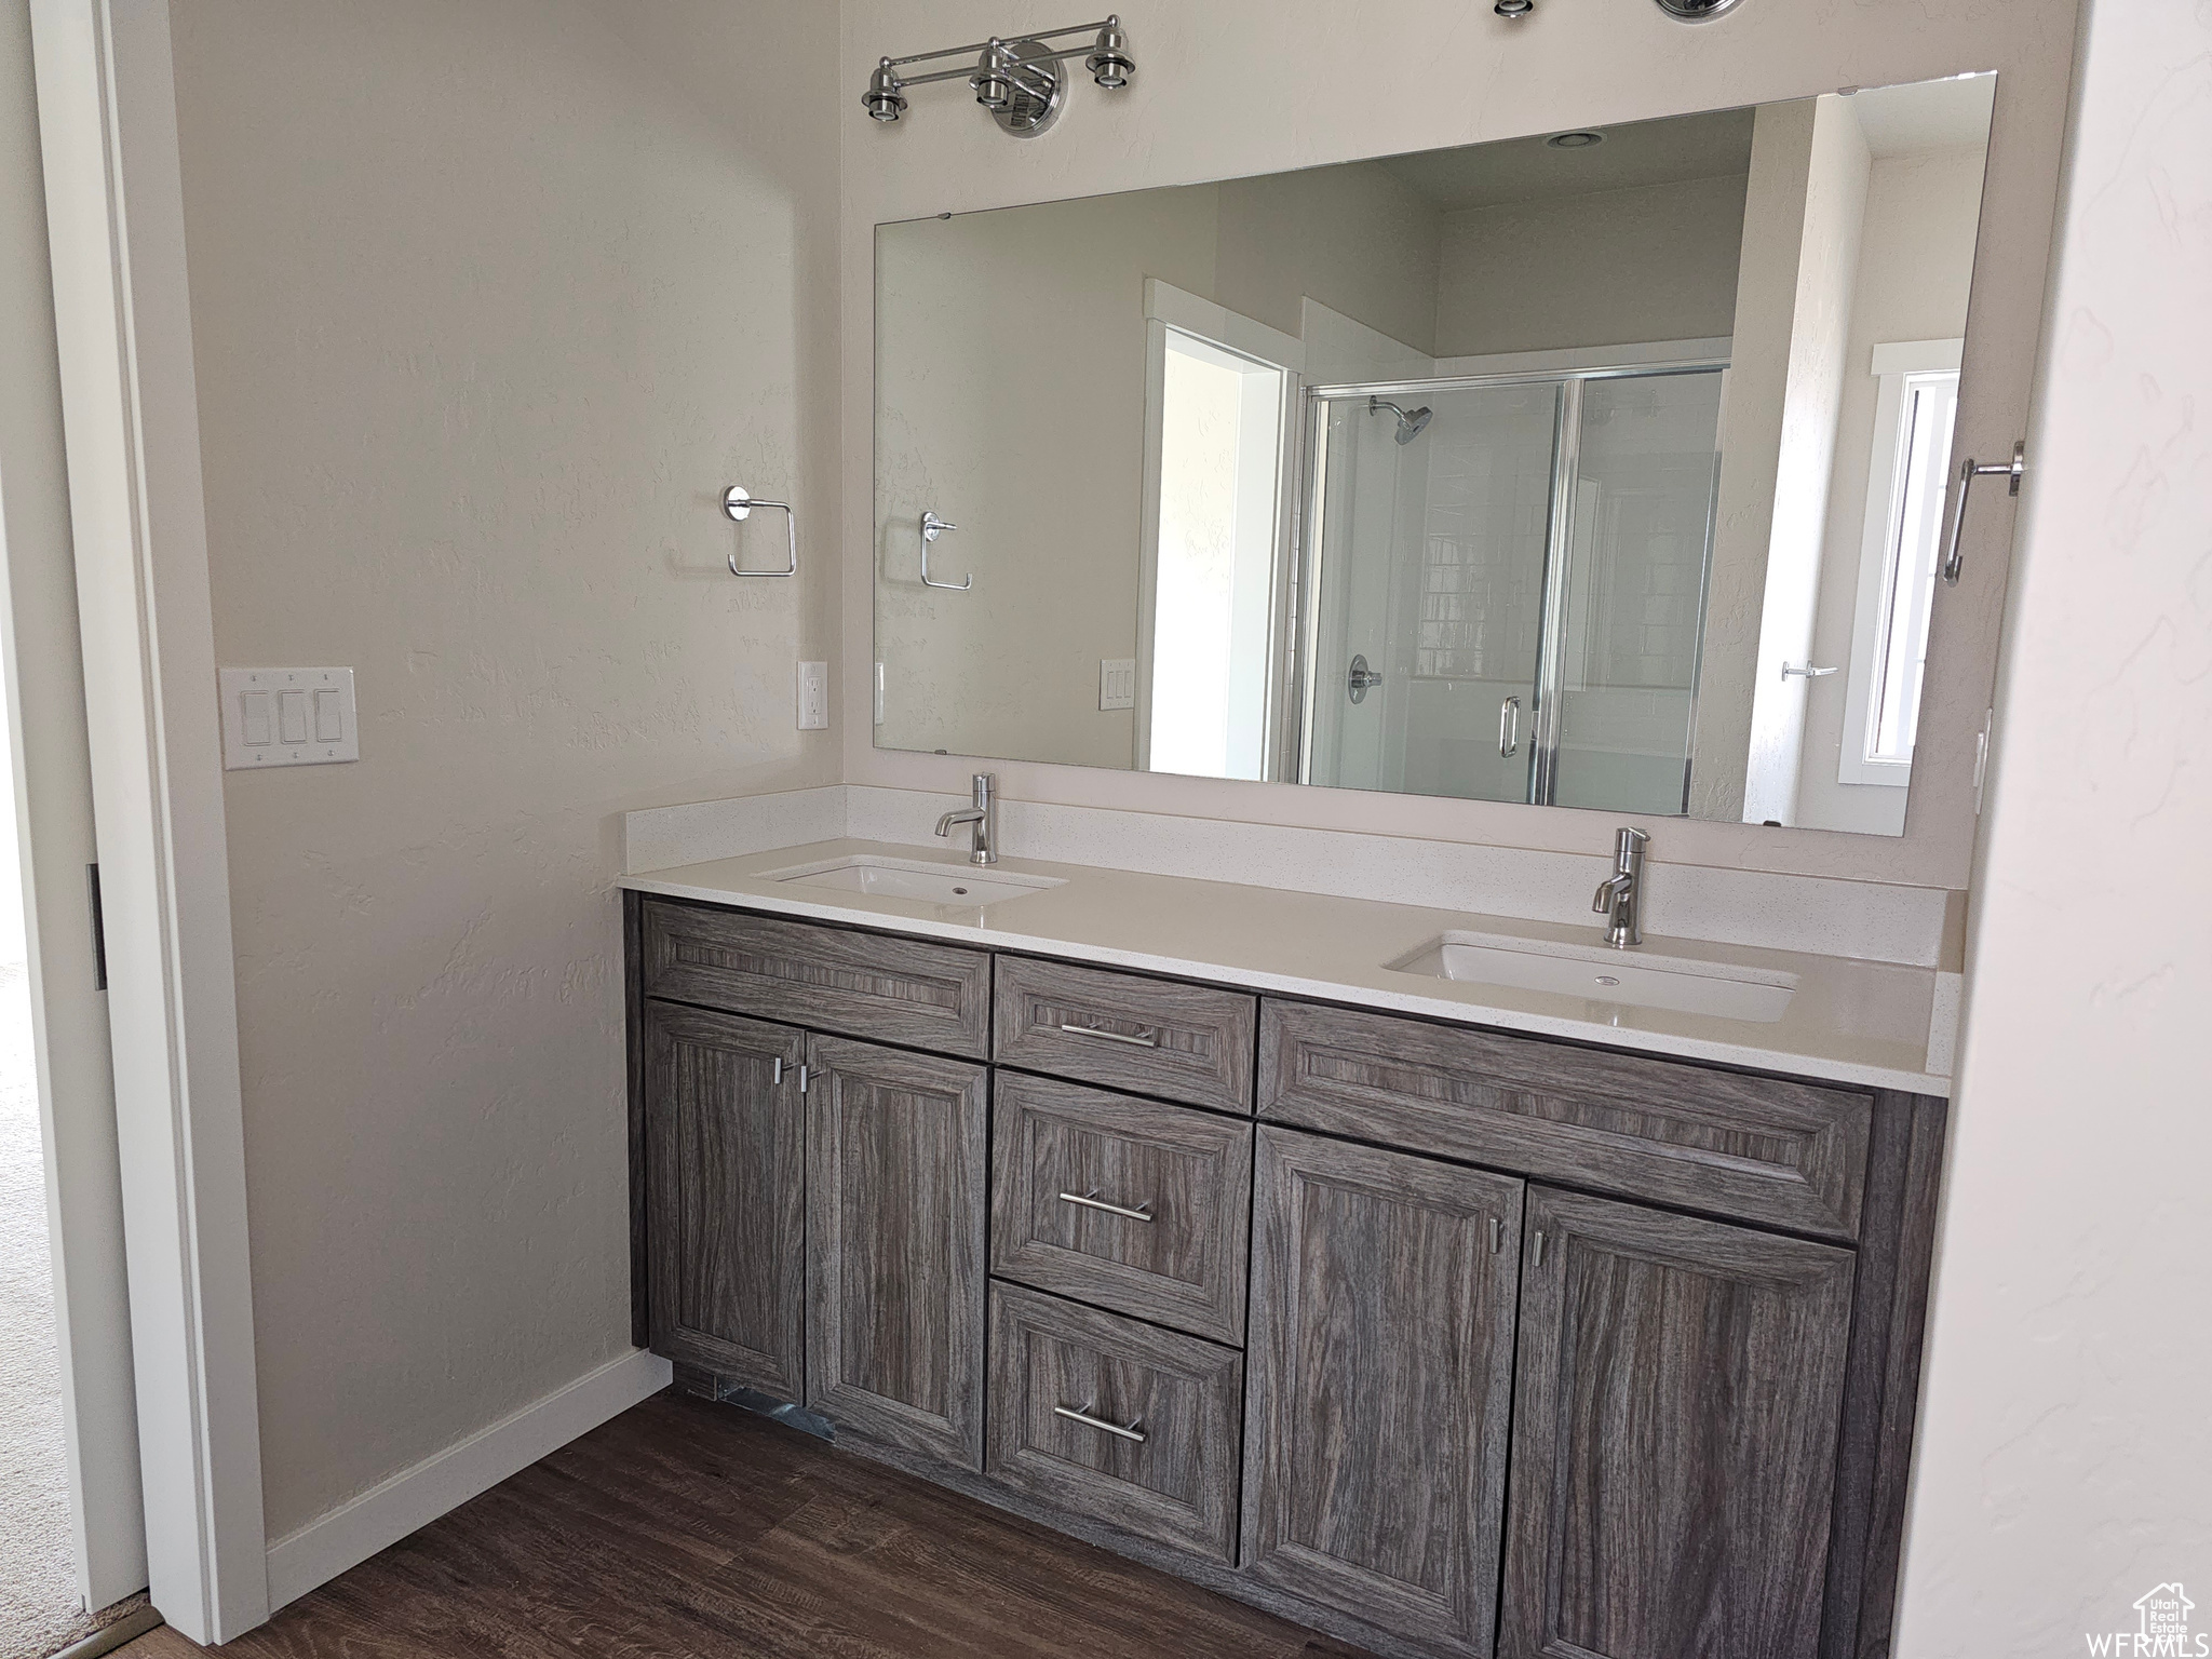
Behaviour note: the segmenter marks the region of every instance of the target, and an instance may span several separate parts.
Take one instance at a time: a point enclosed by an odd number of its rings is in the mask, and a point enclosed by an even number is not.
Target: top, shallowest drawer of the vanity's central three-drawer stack
[[[995,1057],[1009,1066],[1252,1110],[1256,998],[1002,956],[995,1000]]]

